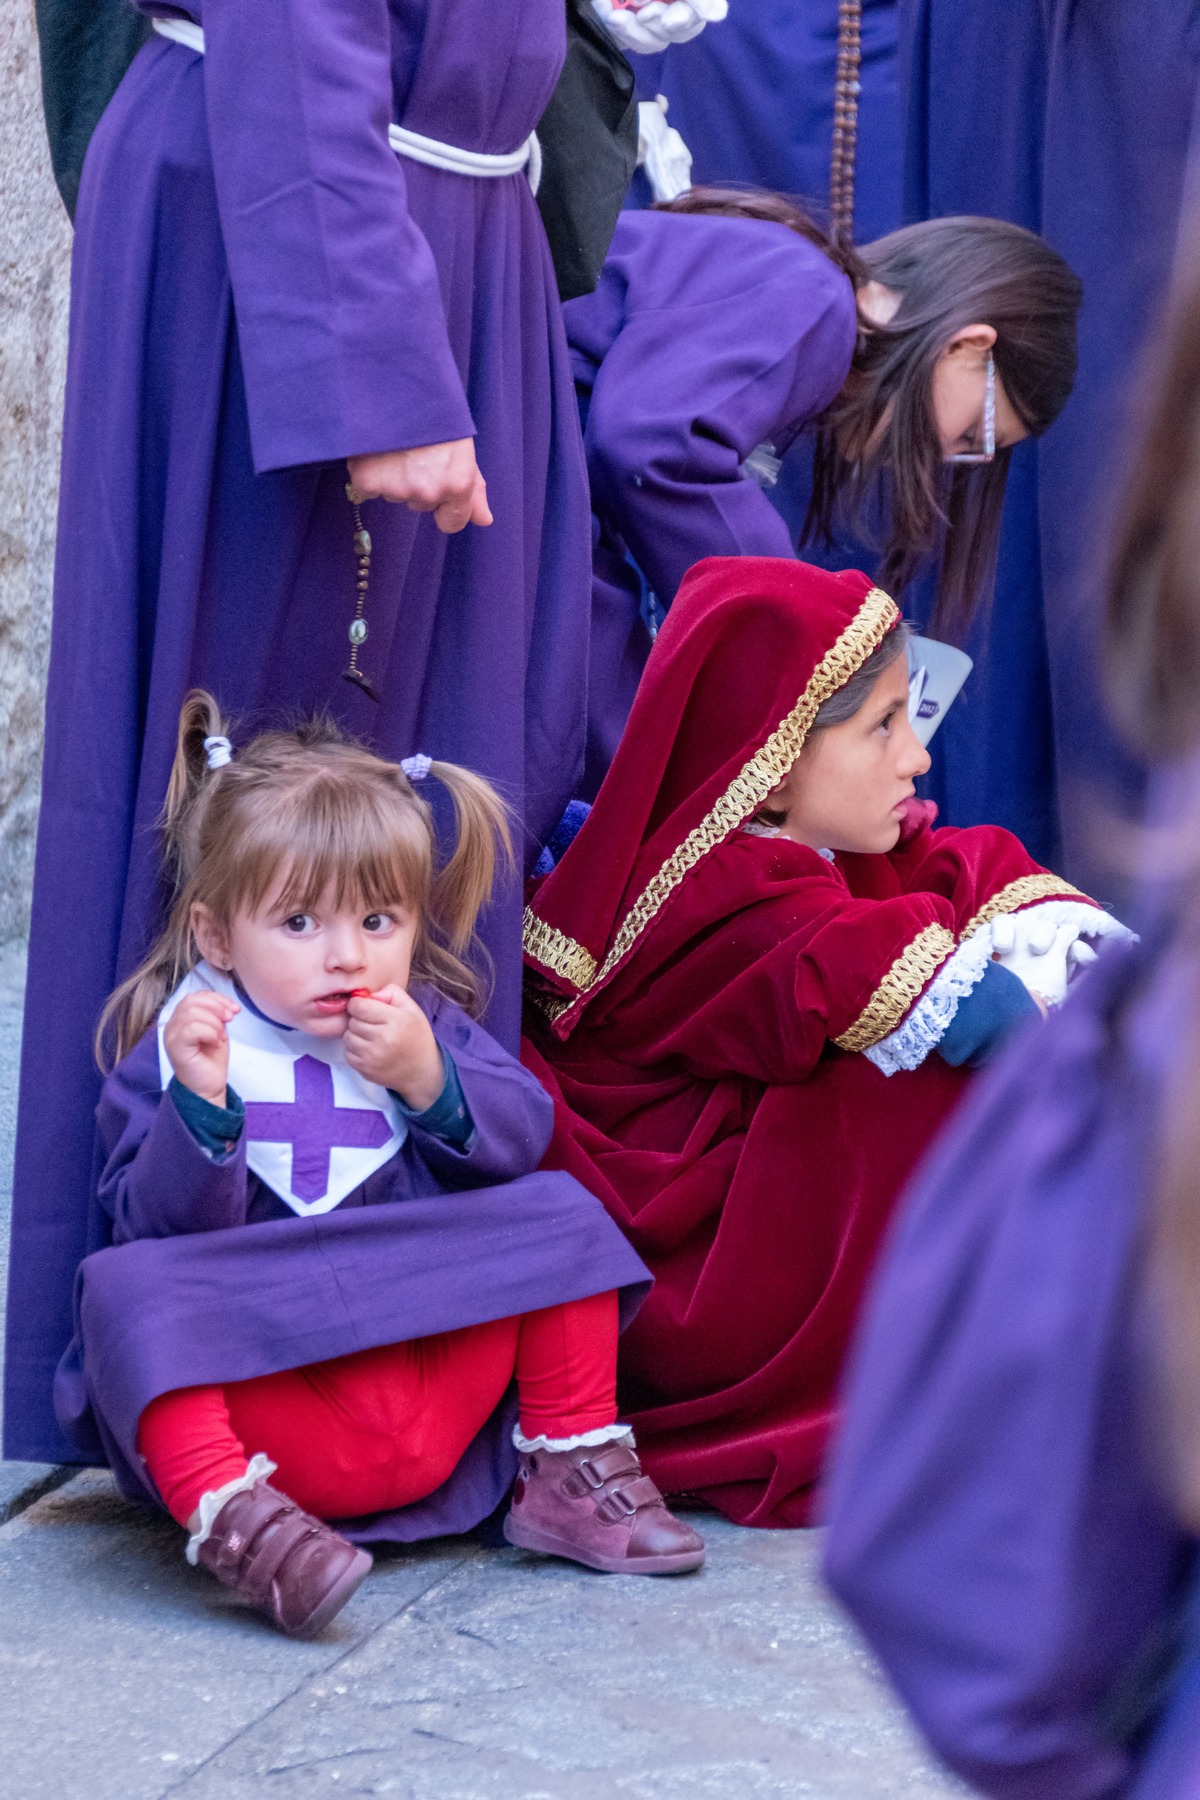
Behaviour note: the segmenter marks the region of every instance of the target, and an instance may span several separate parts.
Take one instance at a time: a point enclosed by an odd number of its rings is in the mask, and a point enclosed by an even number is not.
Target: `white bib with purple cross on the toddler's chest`
[[[342,1039],[272,1024],[207,963],[180,981],[158,1015],[164,1093],[173,1069],[162,1033],[187,994],[223,994],[241,1006],[228,1022],[228,1085],[246,1109],[246,1163],[293,1213],[331,1213],[396,1156],[408,1125],[387,1087],[349,1067]]]

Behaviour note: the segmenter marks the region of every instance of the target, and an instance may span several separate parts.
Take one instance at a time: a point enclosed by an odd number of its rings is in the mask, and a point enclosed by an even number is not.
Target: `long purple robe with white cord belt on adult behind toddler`
[[[47,1462],[72,1454],[50,1381],[94,1247],[90,1040],[160,920],[187,688],[246,725],[329,707],[385,754],[466,763],[531,842],[583,765],[587,472],[542,220],[524,175],[387,146],[389,121],[520,146],[561,0],[205,0],[203,27],[205,56],[139,52],[76,220],[5,1357],[5,1453]],[[365,508],[376,707],[342,680],[342,459],[471,432],[495,526]],[[515,1044],[518,884],[484,934]]]

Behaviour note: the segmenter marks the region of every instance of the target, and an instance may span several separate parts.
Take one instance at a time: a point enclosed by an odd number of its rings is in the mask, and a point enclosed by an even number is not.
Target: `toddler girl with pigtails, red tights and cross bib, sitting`
[[[513,1476],[509,1543],[696,1568],[615,1420],[617,1291],[631,1310],[646,1271],[534,1174],[551,1102],[470,1017],[495,792],[322,724],[234,754],[196,693],[166,828],[171,922],[101,1024],[112,1247],[81,1267],[63,1426],[295,1636],[367,1573],[351,1539],[468,1530]]]

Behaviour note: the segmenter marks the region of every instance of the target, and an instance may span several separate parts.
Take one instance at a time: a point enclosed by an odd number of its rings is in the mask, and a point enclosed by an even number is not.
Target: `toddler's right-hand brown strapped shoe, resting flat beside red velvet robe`
[[[667,1512],[628,1442],[524,1453],[504,1535],[604,1575],[680,1575],[703,1562],[703,1537]]]

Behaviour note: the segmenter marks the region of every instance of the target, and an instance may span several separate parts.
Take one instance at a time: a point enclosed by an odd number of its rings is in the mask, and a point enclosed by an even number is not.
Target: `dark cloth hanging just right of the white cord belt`
[[[633,70],[592,13],[567,0],[567,61],[538,124],[538,207],[558,292],[590,293],[637,167]]]

